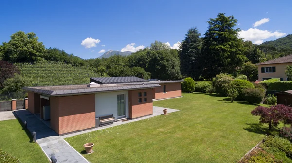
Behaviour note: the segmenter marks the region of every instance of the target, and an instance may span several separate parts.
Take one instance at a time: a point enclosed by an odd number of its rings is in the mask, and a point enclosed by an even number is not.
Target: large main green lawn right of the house
[[[125,125],[66,138],[78,152],[93,142],[92,163],[234,163],[263,139],[266,126],[252,116],[256,105],[230,103],[201,93],[154,102],[180,109]]]

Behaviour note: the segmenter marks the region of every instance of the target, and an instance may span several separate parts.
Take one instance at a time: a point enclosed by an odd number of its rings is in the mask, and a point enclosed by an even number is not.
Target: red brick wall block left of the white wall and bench
[[[55,99],[56,98],[56,99]],[[56,104],[53,104],[56,102]],[[58,124],[54,111],[57,110]],[[54,127],[53,127],[54,126]],[[64,97],[51,97],[51,127],[58,134],[95,127],[95,96],[76,95]]]

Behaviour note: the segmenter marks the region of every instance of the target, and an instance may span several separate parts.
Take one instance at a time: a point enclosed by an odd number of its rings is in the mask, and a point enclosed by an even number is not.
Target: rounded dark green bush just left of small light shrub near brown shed
[[[257,104],[263,100],[265,93],[266,91],[262,88],[245,88],[242,91],[245,101]]]

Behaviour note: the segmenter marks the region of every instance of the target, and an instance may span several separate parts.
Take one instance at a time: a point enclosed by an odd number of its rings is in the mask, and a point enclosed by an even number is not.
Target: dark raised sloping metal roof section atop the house
[[[100,77],[90,78],[90,82],[98,84],[116,84],[116,83],[129,83],[129,82],[148,82],[145,79],[138,77]]]

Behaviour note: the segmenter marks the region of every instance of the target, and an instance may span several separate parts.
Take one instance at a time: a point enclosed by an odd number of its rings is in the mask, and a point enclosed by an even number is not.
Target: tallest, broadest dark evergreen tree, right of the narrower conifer
[[[219,13],[207,23],[209,26],[203,41],[205,77],[212,78],[221,72],[234,73],[235,68],[247,60],[243,41],[237,37],[240,29],[234,29],[237,20]]]

